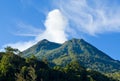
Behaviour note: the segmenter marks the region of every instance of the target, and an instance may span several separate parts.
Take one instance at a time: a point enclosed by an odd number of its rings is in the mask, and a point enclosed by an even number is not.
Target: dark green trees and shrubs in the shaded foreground
[[[115,81],[92,70],[86,70],[78,61],[65,67],[48,67],[46,60],[38,61],[32,55],[21,58],[15,55],[18,51],[10,48],[0,53],[0,81]]]

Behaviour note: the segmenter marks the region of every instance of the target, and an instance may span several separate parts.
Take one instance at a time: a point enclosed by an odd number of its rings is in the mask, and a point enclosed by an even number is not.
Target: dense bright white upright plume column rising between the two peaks
[[[67,20],[62,13],[55,9],[51,11],[45,21],[46,30],[40,34],[36,40],[48,39],[53,42],[63,43],[67,40],[65,30],[67,26]]]

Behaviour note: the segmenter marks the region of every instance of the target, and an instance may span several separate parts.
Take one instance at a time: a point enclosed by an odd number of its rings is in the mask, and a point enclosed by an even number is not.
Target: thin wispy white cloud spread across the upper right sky
[[[115,6],[116,3],[115,0],[65,0],[60,1],[58,6],[67,19],[76,25],[71,26],[72,29],[96,35],[120,32],[120,6]]]

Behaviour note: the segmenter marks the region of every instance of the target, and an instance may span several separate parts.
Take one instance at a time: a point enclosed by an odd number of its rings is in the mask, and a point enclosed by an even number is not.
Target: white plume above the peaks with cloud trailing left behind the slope
[[[53,11],[50,11],[47,15],[47,18],[45,20],[45,30],[41,29],[36,29],[31,25],[25,25],[23,23],[19,23],[18,26],[23,30],[27,30],[25,34],[23,32],[25,31],[20,31],[22,36],[33,36],[34,33],[37,33],[35,35],[35,39],[31,41],[26,41],[26,42],[17,42],[13,44],[6,44],[3,47],[6,46],[11,46],[13,48],[18,48],[20,51],[23,51],[32,45],[36,44],[38,41],[42,39],[48,39],[53,42],[57,43],[63,43],[64,41],[67,40],[67,35],[65,34],[66,26],[67,26],[67,20],[66,18],[62,15],[62,13],[58,10],[55,9]]]

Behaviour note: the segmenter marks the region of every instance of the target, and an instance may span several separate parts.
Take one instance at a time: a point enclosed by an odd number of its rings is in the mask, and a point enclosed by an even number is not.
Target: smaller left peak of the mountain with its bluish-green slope
[[[44,39],[37,44],[33,45],[31,48],[28,48],[27,50],[23,51],[22,57],[29,57],[32,54],[35,54],[35,56],[43,55],[47,51],[55,49],[60,47],[61,44],[49,42],[48,40]]]

